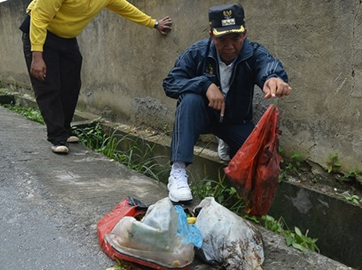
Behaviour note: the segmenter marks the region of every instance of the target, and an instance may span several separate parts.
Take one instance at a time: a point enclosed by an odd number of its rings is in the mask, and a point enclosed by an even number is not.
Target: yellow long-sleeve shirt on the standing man
[[[31,50],[43,51],[47,30],[63,38],[78,36],[103,8],[149,28],[156,22],[126,0],[33,0],[27,8]]]

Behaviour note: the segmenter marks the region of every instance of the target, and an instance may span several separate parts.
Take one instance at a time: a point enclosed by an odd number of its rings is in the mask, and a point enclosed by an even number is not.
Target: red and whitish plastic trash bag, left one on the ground
[[[149,207],[128,197],[98,221],[99,244],[130,269],[189,270],[194,244],[177,235],[178,221],[168,197]]]

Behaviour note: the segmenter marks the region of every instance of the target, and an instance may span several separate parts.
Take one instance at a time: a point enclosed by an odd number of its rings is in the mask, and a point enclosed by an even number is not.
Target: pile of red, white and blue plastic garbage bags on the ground
[[[260,270],[260,232],[208,197],[188,211],[169,198],[149,207],[122,200],[97,224],[102,250],[113,260],[147,269],[187,270],[197,256],[219,269]]]

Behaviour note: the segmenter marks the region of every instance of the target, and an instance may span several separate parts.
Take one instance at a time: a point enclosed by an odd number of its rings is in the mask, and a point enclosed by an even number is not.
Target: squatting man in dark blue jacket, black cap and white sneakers
[[[233,157],[254,128],[254,86],[266,99],[292,91],[280,61],[248,40],[240,4],[211,7],[209,24],[209,38],[187,48],[163,80],[166,95],[177,99],[167,185],[173,202],[192,200],[186,166],[200,134],[225,141]]]

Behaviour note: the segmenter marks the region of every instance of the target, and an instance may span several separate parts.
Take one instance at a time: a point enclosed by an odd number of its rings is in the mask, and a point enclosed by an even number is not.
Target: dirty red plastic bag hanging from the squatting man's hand
[[[250,215],[265,215],[272,204],[280,173],[279,134],[278,108],[271,104],[224,169]]]

